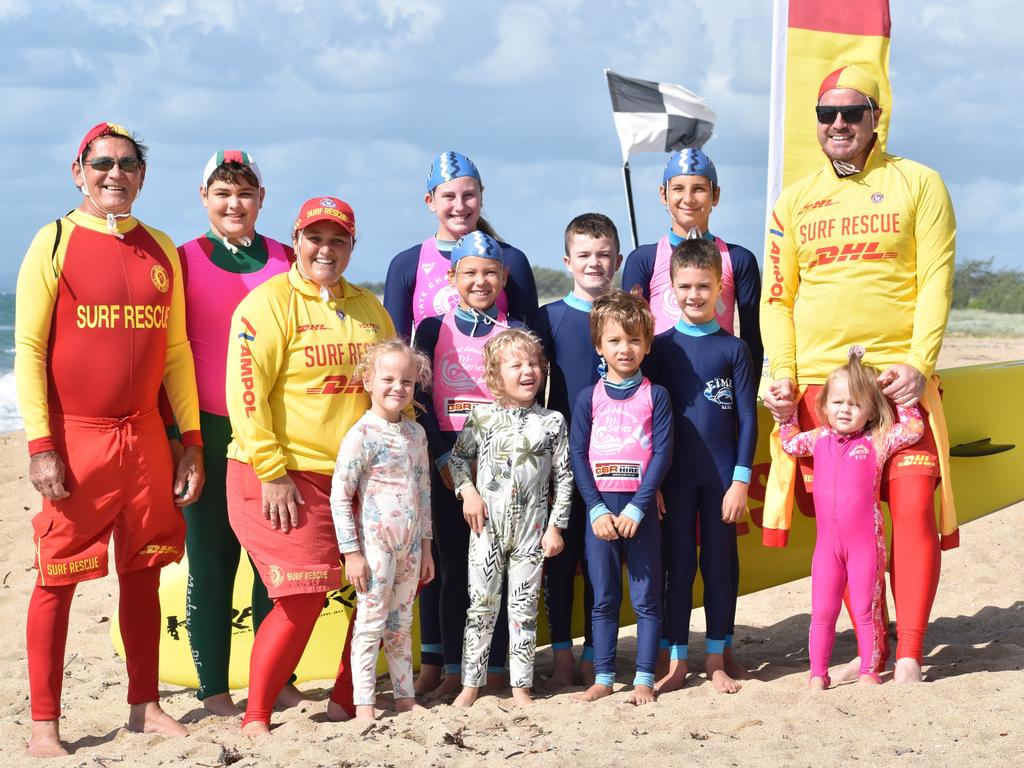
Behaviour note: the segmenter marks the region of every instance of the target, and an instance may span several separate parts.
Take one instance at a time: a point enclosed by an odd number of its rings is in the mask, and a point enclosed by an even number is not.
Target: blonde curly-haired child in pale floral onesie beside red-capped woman
[[[371,407],[341,441],[331,512],[357,600],[351,652],[355,717],[373,720],[382,638],[395,710],[420,709],[413,691],[413,600],[418,584],[434,575],[430,465],[423,427],[402,412],[417,384],[429,386],[430,364],[404,341],[391,339],[370,347],[356,373]]]

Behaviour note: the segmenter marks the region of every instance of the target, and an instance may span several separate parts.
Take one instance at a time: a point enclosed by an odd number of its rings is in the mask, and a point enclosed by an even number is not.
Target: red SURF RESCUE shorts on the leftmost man
[[[173,459],[156,409],[124,419],[50,414],[70,496],[43,499],[32,520],[38,584],[106,575],[114,537],[119,573],[177,562],[185,521],[174,504]]]

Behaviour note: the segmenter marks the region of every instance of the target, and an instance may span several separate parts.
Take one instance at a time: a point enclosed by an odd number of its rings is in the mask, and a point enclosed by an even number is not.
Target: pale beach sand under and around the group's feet
[[[1024,358],[1022,339],[950,337],[942,366]],[[1014,406],[1016,407],[1016,406]],[[0,755],[3,768],[61,766],[874,766],[1024,765],[1024,504],[970,523],[945,553],[926,643],[922,685],[841,686],[808,694],[810,580],[739,599],[737,654],[756,670],[735,695],[702,676],[655,705],[625,702],[632,678],[632,629],[620,643],[615,693],[577,705],[570,692],[529,710],[507,697],[481,698],[469,712],[438,706],[389,714],[371,727],[325,720],[324,684],[303,687],[308,705],[274,715],[273,735],[241,736],[238,721],[205,717],[193,691],[163,687],[162,703],[189,725],[187,738],[125,730],[124,664],[109,640],[116,581],[79,589],[66,659],[62,735],[73,755],[34,761],[25,754],[29,699],[25,613],[34,584],[30,518],[38,496],[26,477],[24,435],[0,436]],[[702,637],[702,612],[694,637]],[[835,659],[855,652],[844,616]],[[694,666],[702,662],[694,642]],[[550,651],[538,655],[541,674]],[[244,698],[244,692],[239,692]]]

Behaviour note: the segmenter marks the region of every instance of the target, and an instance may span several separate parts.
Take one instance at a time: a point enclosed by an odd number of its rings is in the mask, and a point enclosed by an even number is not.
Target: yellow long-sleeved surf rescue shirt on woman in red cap
[[[370,408],[355,367],[394,336],[371,292],[344,279],[324,301],[295,265],[253,289],[231,318],[227,456],[266,482],[300,470],[333,474],[338,445]]]

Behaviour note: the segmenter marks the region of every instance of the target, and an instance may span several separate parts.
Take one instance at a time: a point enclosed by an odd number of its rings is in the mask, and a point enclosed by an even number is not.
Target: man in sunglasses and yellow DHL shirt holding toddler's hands
[[[921,441],[895,454],[882,478],[893,525],[894,677],[915,682],[939,582],[934,490],[940,477],[941,549],[958,543],[935,376],[952,296],[956,223],[939,174],[881,145],[871,76],[852,66],[828,74],[816,113],[825,163],[782,190],[768,221],[761,334],[774,383],[764,402],[781,418],[796,409],[802,430],[818,426],[820,385],[860,344],[864,362],[883,371],[886,395],[900,406],[920,402],[927,414]],[[771,449],[763,537],[767,546],[784,547],[794,490],[811,490],[813,469],[802,461],[797,480],[797,465],[775,435]]]

